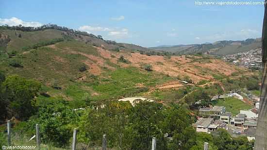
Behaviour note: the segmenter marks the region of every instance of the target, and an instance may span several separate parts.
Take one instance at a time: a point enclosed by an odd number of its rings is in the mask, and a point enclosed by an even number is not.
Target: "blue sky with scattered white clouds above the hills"
[[[0,0],[0,24],[53,23],[144,47],[261,37],[263,15],[263,5],[195,0]]]

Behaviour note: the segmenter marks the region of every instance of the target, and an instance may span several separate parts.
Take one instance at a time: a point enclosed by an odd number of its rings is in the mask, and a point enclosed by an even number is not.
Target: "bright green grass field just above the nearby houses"
[[[243,101],[233,97],[214,100],[212,101],[212,104],[217,106],[225,106],[226,112],[231,112],[233,116],[237,115],[240,112],[240,110],[249,110],[252,108],[251,105],[246,104]]]

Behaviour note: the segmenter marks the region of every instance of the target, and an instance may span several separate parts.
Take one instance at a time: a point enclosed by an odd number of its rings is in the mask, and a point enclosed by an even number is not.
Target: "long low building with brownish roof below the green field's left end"
[[[225,113],[224,106],[205,107],[200,109],[200,115],[203,117],[219,117],[223,113]]]

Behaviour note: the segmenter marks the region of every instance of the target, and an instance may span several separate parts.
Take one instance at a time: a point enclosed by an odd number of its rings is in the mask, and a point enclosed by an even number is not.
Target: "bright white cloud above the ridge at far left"
[[[22,21],[21,19],[18,19],[17,17],[11,17],[9,19],[1,19],[0,18],[0,25],[9,25],[9,26],[18,26],[22,25],[24,27],[40,27],[42,26],[42,23],[40,22],[26,22]]]

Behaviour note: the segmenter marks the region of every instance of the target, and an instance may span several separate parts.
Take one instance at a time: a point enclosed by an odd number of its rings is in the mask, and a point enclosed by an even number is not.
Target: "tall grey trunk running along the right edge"
[[[267,0],[265,0],[267,2]],[[260,112],[256,131],[255,149],[267,150],[267,5],[265,4],[262,29],[263,75],[260,98]]]

